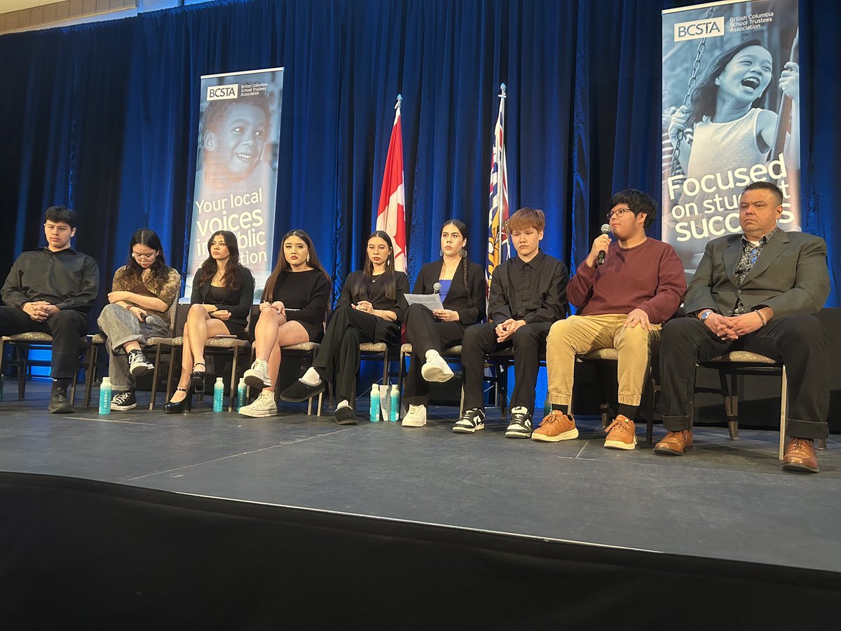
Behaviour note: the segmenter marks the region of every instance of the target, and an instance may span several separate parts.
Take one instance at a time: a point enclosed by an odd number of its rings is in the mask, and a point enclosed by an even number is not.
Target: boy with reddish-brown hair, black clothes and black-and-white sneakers
[[[482,376],[484,356],[514,349],[509,438],[532,435],[532,410],[540,356],[549,327],[566,315],[569,271],[563,262],[540,250],[546,219],[542,210],[523,208],[505,225],[517,257],[497,266],[490,281],[489,322],[469,326],[462,342],[464,412],[453,432],[484,428]]]

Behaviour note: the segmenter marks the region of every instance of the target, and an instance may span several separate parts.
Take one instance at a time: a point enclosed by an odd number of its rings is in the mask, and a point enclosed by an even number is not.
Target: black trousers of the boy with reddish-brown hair
[[[514,348],[514,392],[511,393],[511,409],[525,407],[534,410],[534,390],[537,385],[537,371],[540,358],[546,352],[546,337],[552,322],[526,324],[514,331],[505,342],[496,341],[493,322],[468,326],[462,342],[462,366],[464,369],[464,409],[484,408],[482,397],[482,375],[484,356],[503,348]]]

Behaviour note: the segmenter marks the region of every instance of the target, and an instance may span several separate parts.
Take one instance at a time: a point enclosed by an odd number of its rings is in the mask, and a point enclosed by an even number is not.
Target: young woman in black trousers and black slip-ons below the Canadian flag
[[[359,372],[359,344],[400,343],[403,295],[409,290],[409,278],[394,270],[394,247],[388,233],[376,231],[369,236],[367,253],[365,267],[347,275],[312,367],[280,395],[283,400],[304,401],[323,392],[326,380],[335,378],[339,425],[357,422],[353,384]]]

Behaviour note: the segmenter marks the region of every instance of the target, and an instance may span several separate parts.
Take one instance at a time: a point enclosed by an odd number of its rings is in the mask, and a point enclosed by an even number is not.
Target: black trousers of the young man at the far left
[[[53,379],[73,379],[79,363],[81,338],[87,335],[87,314],[67,309],[39,322],[18,307],[0,307],[0,335],[28,331],[49,333],[53,337],[50,376]]]

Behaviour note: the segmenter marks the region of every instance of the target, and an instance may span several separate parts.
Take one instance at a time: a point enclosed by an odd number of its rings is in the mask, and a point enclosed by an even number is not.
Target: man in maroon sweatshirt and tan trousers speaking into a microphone
[[[611,199],[607,220],[616,241],[601,235],[567,285],[578,315],[555,322],[546,342],[552,411],[532,439],[557,443],[578,437],[569,416],[575,356],[601,348],[619,352],[619,409],[607,428],[605,447],[637,445],[634,416],[643,395],[651,347],[659,343],[664,321],[674,315],[686,293],[683,263],[674,247],[646,236],[657,204],[627,188]],[[601,258],[600,253],[604,252]]]

